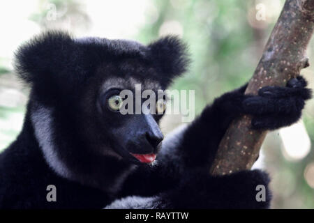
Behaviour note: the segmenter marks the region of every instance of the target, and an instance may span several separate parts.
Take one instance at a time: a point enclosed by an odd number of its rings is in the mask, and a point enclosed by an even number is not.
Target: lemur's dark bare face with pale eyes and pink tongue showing
[[[98,68],[84,104],[92,108],[86,110],[92,134],[103,138],[98,152],[136,164],[154,162],[163,140],[158,123],[166,100],[154,75],[154,68],[134,59]]]

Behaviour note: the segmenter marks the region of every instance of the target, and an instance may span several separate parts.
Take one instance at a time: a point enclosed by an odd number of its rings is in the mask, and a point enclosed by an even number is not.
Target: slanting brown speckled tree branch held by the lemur
[[[313,34],[314,0],[287,0],[246,94],[257,94],[262,86],[285,86],[308,66],[306,47]],[[251,169],[267,132],[251,129],[251,117],[232,122],[220,142],[211,174],[225,175]]]

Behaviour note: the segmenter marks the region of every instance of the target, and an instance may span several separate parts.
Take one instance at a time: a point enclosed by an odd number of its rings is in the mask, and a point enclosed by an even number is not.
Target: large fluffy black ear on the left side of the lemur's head
[[[68,33],[47,31],[17,49],[15,70],[25,82],[50,82],[69,66],[73,48],[73,39]]]

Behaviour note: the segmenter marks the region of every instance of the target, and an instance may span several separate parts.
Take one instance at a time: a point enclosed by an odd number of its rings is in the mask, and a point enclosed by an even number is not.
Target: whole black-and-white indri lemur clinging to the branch
[[[15,55],[31,93],[22,131],[0,155],[0,208],[268,208],[268,188],[265,202],[255,199],[255,187],[269,183],[263,171],[209,175],[219,141],[241,114],[255,129],[291,125],[311,98],[302,77],[258,95],[244,95],[245,85],[163,140],[163,115],[122,115],[112,98],[135,84],[166,89],[186,72],[179,38],[142,45],[49,31]],[[56,202],[47,185],[57,187]]]

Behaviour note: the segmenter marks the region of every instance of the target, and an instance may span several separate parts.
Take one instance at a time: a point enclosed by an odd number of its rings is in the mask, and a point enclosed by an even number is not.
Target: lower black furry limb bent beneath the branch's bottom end
[[[200,170],[188,173],[165,199],[174,208],[269,208],[268,185],[268,174],[260,170],[225,176],[209,176],[208,171]]]

